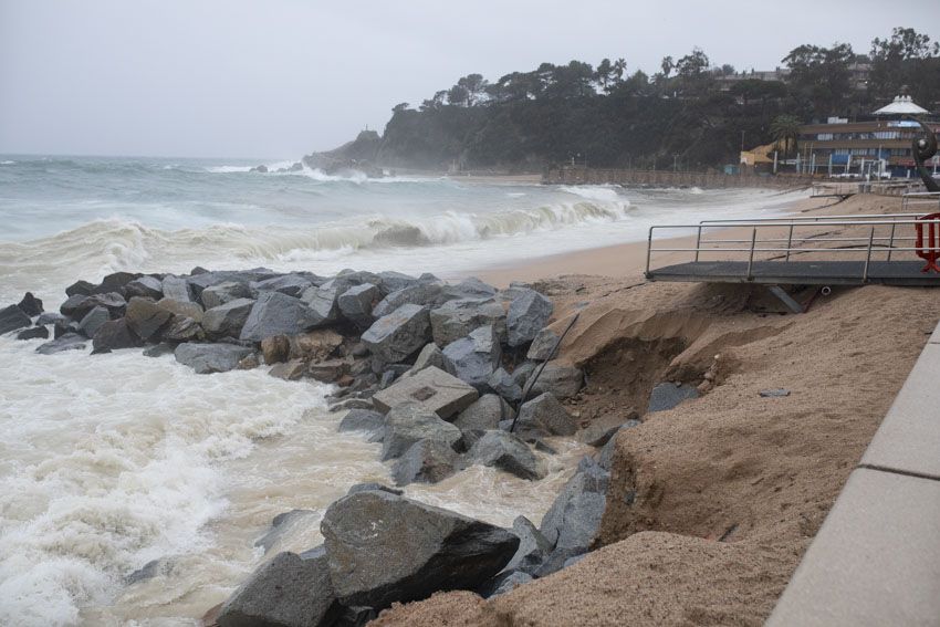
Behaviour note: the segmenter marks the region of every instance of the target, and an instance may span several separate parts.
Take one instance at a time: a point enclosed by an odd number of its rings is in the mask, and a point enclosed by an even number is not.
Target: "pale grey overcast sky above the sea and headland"
[[[0,153],[299,157],[462,75],[940,36],[938,0],[0,0]]]

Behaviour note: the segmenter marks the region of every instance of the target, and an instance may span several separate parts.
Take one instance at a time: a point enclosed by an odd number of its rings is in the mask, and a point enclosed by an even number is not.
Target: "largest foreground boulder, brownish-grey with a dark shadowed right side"
[[[504,529],[382,491],[336,501],[321,531],[341,602],[376,609],[474,589],[519,547]]]

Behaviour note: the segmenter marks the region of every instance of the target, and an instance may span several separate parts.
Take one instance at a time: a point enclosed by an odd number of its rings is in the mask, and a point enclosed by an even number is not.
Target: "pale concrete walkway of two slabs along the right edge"
[[[940,626],[940,325],[766,625]]]

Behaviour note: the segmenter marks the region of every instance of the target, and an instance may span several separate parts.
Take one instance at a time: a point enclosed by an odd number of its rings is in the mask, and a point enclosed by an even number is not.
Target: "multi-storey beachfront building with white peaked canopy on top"
[[[849,122],[831,117],[825,124],[800,127],[800,171],[853,178],[917,177],[911,142],[921,132],[920,125],[908,116],[928,123],[940,134],[940,118],[915,103],[908,95],[898,95],[887,106],[871,113],[868,119]],[[940,170],[940,159],[929,161]]]

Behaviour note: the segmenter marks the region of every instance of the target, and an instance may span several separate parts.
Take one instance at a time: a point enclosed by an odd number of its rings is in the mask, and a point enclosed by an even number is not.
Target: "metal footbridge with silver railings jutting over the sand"
[[[940,286],[940,194],[902,212],[703,220],[649,229],[650,281]],[[694,237],[694,244],[675,238]]]

